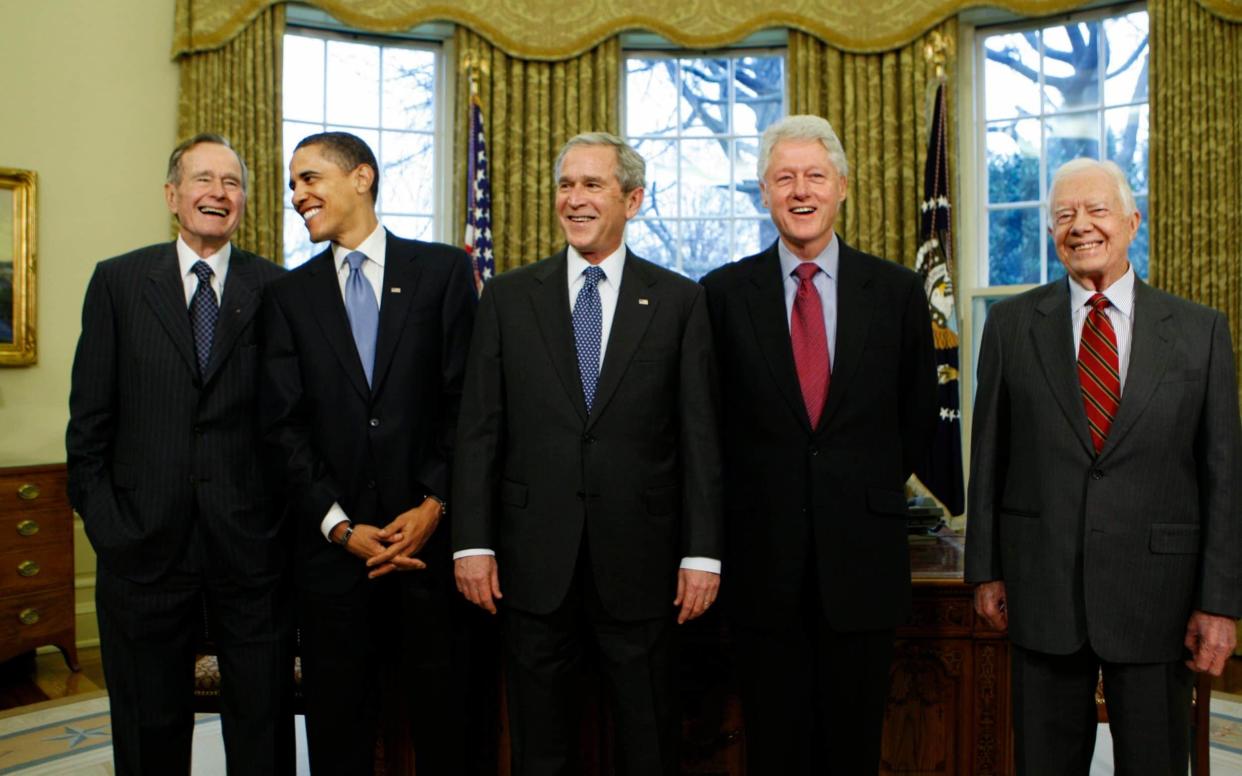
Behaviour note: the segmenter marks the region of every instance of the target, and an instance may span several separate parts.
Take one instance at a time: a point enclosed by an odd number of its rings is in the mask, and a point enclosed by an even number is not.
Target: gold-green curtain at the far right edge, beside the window
[[[1242,355],[1242,24],[1195,0],[1148,10],[1150,279],[1228,314]]]

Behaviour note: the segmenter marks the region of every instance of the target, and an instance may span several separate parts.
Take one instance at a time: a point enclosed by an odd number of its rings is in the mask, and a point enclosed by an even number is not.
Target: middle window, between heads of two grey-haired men
[[[785,115],[780,52],[626,57],[626,137],[647,160],[647,192],[626,241],[698,278],[776,238],[760,205],[759,135]]]

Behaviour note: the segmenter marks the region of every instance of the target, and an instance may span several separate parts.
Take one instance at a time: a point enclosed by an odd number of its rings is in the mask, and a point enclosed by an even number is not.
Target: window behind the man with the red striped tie
[[[1052,25],[980,26],[972,70],[974,124],[963,137],[975,142],[963,154],[959,205],[959,302],[971,354],[994,302],[1064,276],[1046,202],[1053,173],[1074,156],[1110,159],[1128,174],[1143,214],[1130,263],[1146,277],[1148,14],[1140,5]],[[964,389],[974,376],[968,359]]]

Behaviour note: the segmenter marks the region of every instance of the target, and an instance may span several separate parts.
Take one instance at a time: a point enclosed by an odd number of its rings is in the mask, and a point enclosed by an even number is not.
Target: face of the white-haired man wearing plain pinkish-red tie
[[[785,245],[800,258],[815,258],[832,240],[847,184],[818,140],[779,140],[759,191]]]

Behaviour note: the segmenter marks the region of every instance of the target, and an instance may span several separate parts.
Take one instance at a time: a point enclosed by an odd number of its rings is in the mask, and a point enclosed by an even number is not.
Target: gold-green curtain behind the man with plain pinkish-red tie
[[[850,53],[805,32],[789,36],[790,113],[828,119],[850,160],[850,195],[837,233],[852,246],[914,266],[935,68],[923,56],[936,32],[956,40],[958,22],[932,27],[913,43]],[[945,72],[954,72],[950,56]],[[956,114],[954,89],[948,114]],[[956,127],[949,128],[950,181],[958,170]],[[950,191],[951,199],[951,191]]]

